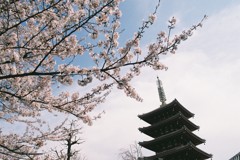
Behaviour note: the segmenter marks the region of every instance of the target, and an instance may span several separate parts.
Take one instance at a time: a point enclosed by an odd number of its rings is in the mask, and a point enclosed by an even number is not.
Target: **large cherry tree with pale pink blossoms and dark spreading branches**
[[[176,24],[143,53],[140,41],[156,20],[157,9],[139,30],[119,44],[121,0],[5,0],[0,4],[0,121],[22,124],[24,131],[0,128],[0,158],[51,159],[40,151],[48,141],[62,141],[71,116],[92,125],[101,114],[90,116],[113,87],[138,101],[130,81],[141,68],[167,69],[159,55],[175,53],[181,41],[192,35],[202,21],[179,35],[170,36]],[[87,61],[87,63],[84,63]],[[78,91],[70,92],[78,85]],[[80,92],[81,91],[81,92]],[[43,114],[65,116],[55,127]],[[6,126],[3,125],[3,126]]]

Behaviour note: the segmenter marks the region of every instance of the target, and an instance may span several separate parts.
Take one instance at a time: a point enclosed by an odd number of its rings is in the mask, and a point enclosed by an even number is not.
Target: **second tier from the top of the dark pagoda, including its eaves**
[[[189,121],[181,112],[179,112],[176,115],[151,126],[139,128],[139,131],[150,137],[156,138],[167,134],[168,132],[181,129],[183,126],[192,132],[199,129],[199,126]]]

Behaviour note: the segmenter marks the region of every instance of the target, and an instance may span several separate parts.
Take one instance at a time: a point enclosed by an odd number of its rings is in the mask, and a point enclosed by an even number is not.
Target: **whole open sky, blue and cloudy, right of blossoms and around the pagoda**
[[[142,19],[154,10],[156,0],[126,0],[122,3],[122,42],[141,25]],[[138,131],[147,126],[137,115],[159,107],[156,77],[163,82],[167,102],[174,98],[195,114],[192,122],[200,126],[195,132],[206,139],[200,145],[213,154],[213,160],[230,159],[240,151],[240,2],[237,0],[171,0],[162,1],[156,23],[146,32],[143,47],[155,40],[160,30],[167,29],[169,17],[179,20],[175,33],[209,18],[175,55],[162,63],[168,71],[145,68],[132,82],[142,103],[114,90],[106,103],[99,106],[106,114],[85,127],[80,148],[89,160],[117,160],[121,148],[134,141],[150,138]],[[145,155],[153,153],[143,150]]]

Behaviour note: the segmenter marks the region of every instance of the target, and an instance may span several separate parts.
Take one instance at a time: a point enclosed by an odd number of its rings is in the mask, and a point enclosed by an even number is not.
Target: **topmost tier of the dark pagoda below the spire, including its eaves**
[[[193,113],[183,107],[176,99],[163,107],[159,107],[151,112],[139,115],[138,117],[149,124],[154,124],[181,112],[186,118],[194,116]]]

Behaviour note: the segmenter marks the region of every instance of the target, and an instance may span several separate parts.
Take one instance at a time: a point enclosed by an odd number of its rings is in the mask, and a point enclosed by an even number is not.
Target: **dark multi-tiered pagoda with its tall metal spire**
[[[156,154],[144,157],[143,160],[205,160],[211,158],[196,146],[205,143],[193,131],[199,129],[189,118],[194,114],[183,107],[176,99],[166,104],[161,81],[158,79],[158,92],[162,105],[138,117],[150,126],[139,128],[139,131],[153,140],[139,142],[139,145],[154,151]]]

